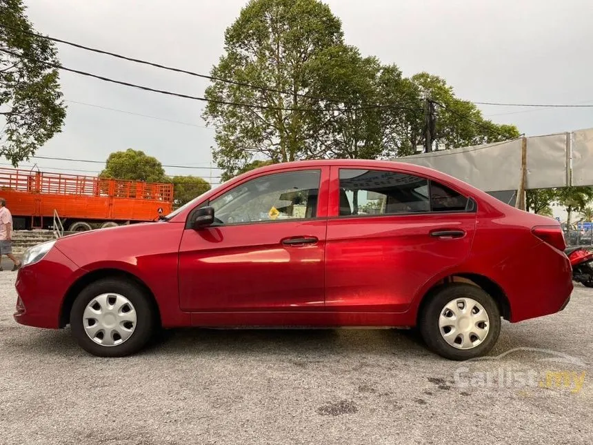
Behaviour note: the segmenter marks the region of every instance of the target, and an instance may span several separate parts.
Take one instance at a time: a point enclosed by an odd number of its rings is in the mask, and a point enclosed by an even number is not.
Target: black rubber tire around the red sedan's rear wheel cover
[[[448,344],[441,335],[439,317],[450,301],[468,297],[477,301],[488,314],[490,328],[483,342],[469,349],[459,349]],[[501,333],[501,313],[496,301],[481,288],[471,284],[447,284],[436,290],[421,307],[419,330],[432,352],[451,360],[467,360],[486,355],[496,344]]]

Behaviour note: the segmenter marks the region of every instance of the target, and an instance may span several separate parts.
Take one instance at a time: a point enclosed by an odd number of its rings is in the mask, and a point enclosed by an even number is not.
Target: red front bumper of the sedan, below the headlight
[[[59,328],[61,304],[78,270],[55,246],[39,263],[21,268],[14,320],[36,328]]]

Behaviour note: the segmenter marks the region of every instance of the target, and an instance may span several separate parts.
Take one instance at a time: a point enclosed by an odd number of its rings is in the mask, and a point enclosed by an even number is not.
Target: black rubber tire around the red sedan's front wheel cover
[[[136,311],[136,326],[132,335],[115,346],[103,346],[94,342],[83,326],[86,306],[95,297],[106,293],[122,295]],[[137,284],[125,279],[104,278],[89,284],[74,300],[70,311],[70,328],[78,344],[88,353],[98,357],[125,357],[137,353],[150,341],[158,326],[156,317],[152,299]]]

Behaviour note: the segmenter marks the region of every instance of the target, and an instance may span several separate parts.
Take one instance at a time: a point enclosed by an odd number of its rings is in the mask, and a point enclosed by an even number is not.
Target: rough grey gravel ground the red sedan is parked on
[[[398,330],[175,330],[101,359],[69,330],[16,324],[15,276],[0,273],[0,444],[593,443],[593,290],[505,322],[491,354],[556,355],[449,362]],[[485,371],[545,386],[546,370],[569,387],[484,387]]]

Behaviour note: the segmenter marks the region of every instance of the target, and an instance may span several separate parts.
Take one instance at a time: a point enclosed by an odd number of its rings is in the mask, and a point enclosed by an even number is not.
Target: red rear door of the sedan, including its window
[[[469,255],[476,205],[394,170],[332,167],[327,310],[403,312],[432,277]]]

